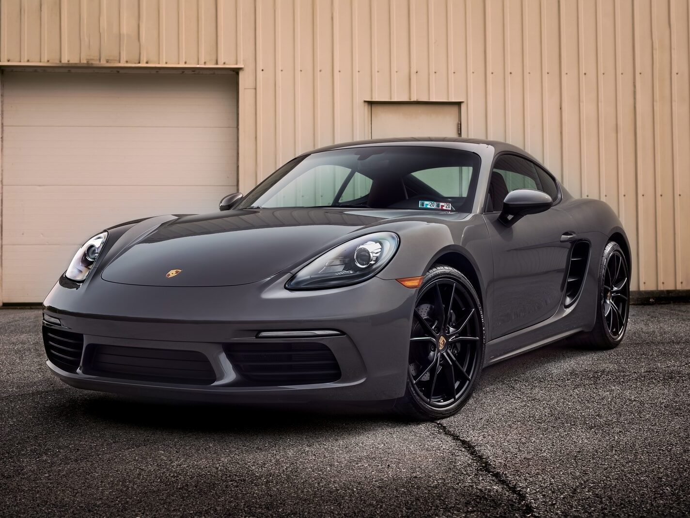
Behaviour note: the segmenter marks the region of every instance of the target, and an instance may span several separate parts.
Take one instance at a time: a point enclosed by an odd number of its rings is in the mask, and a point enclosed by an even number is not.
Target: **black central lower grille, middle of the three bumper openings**
[[[199,351],[93,344],[87,357],[86,374],[187,385],[216,381],[208,358]]]

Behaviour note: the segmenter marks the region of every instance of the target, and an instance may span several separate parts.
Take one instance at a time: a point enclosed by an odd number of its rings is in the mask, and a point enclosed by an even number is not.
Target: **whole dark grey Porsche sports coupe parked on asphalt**
[[[121,394],[439,419],[486,365],[625,333],[620,221],[509,144],[328,146],[220,210],[90,238],[44,303],[50,370]]]

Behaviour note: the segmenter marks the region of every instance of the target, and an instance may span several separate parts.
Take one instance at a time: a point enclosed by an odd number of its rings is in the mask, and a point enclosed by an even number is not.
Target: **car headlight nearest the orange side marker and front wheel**
[[[357,284],[384,269],[399,242],[392,232],[368,234],[344,242],[299,270],[285,287],[323,289]]]

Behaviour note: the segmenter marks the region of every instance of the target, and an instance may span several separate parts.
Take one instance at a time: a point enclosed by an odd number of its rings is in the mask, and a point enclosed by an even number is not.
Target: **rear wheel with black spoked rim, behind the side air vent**
[[[597,317],[594,327],[590,332],[574,336],[570,342],[588,349],[618,347],[628,326],[629,307],[630,267],[618,243],[609,241],[599,265]]]

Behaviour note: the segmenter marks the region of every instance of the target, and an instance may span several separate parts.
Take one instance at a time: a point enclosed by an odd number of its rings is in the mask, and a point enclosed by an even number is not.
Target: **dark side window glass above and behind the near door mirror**
[[[543,171],[542,174],[546,175]],[[515,189],[536,189],[550,195],[555,200],[555,196],[552,194],[555,191],[555,184],[544,189],[538,168],[532,162],[517,155],[502,155],[493,164],[486,210],[489,212],[501,211],[506,195]],[[558,191],[555,192],[558,193]]]

